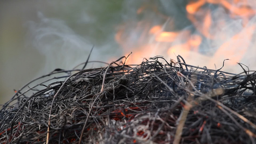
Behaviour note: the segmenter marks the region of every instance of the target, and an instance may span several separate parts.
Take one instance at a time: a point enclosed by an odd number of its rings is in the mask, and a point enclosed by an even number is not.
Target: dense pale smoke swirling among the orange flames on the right
[[[236,9],[244,6],[246,1],[227,0],[233,6],[230,10],[221,4],[206,3],[195,13],[192,22],[186,12],[187,3],[184,0],[160,0],[160,1],[140,1],[133,0],[124,2],[123,24],[119,27],[122,32],[121,45],[126,53],[129,51],[139,52],[140,57],[151,57],[163,55],[168,60],[175,59],[175,55],[182,55],[187,63],[207,66],[211,69],[219,69],[225,59],[225,67],[222,69],[228,72],[242,72],[243,69],[236,62],[244,63],[251,69],[256,69],[254,60],[255,48],[255,28],[256,16],[236,15]],[[216,2],[217,3],[217,2]],[[256,11],[256,2],[248,1],[252,11]],[[248,4],[247,3],[247,4]],[[143,12],[136,13],[140,8]],[[241,8],[242,9],[242,8]],[[229,12],[230,11],[230,12]],[[203,22],[210,13],[211,25],[207,26]],[[249,12],[249,11],[248,11]],[[250,18],[248,18],[250,17]],[[248,18],[248,19],[246,19]],[[162,25],[161,31],[179,32],[173,42],[157,42],[155,37],[148,32],[154,25]],[[197,26],[197,28],[195,28]],[[203,32],[204,31],[204,32]],[[182,48],[186,41],[193,36],[203,37],[198,52],[186,51]],[[206,37],[208,35],[209,37]],[[169,48],[177,48],[174,53],[167,53]],[[140,60],[140,59],[139,59]],[[141,59],[142,60],[142,59]]]

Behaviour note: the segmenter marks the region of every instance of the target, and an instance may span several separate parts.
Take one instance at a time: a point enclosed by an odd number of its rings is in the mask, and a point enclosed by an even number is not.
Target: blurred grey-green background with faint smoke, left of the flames
[[[1,0],[0,104],[32,79],[84,62],[93,45],[90,60],[121,57],[114,34],[122,2]]]

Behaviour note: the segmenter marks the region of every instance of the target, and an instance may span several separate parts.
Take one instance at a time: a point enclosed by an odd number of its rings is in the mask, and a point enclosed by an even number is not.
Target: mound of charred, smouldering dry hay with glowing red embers
[[[2,107],[0,143],[255,144],[256,72],[177,58],[51,72],[66,80],[25,85]]]

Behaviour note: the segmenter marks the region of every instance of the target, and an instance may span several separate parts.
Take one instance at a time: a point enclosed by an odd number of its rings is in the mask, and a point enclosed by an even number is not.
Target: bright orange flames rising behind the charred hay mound
[[[216,63],[219,67],[224,59],[235,65],[253,47],[253,5],[256,2],[247,0],[189,0],[183,10],[192,25],[175,28],[173,15],[147,3],[136,12],[143,18],[121,24],[115,39],[126,55],[133,52],[128,63],[156,55],[173,59],[179,54],[195,65],[201,62],[200,66],[213,67]]]

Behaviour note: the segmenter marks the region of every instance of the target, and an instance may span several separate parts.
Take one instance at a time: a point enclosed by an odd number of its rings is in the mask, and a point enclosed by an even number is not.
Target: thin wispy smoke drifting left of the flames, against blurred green
[[[29,22],[29,40],[45,56],[47,70],[71,69],[85,62],[93,44],[76,34],[59,19],[46,18],[38,12],[39,22]],[[94,48],[92,57],[99,54]]]

